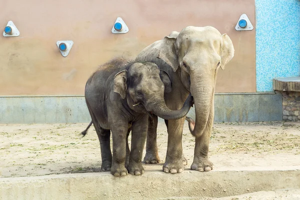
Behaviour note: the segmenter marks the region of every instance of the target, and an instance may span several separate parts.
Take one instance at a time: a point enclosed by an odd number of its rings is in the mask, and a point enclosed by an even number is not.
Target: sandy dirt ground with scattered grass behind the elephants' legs
[[[99,142],[93,127],[85,137],[79,135],[86,126],[81,123],[0,125],[0,177],[101,172]],[[149,169],[162,170],[167,144],[164,123],[158,124],[157,132],[161,162],[143,164],[145,173]],[[300,169],[299,136],[297,123],[214,124],[209,149],[213,170]],[[194,137],[186,122],[182,138],[188,170],[193,159]]]

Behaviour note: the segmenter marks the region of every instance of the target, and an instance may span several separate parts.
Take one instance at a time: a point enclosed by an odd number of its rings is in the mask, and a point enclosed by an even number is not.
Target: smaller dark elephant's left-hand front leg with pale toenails
[[[112,165],[110,174],[113,176],[126,176],[125,168],[126,161],[126,135],[128,131],[128,123],[123,123],[118,120],[117,123],[112,123]]]

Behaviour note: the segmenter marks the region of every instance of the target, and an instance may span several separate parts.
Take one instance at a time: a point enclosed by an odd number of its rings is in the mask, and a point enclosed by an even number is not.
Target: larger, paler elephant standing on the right
[[[144,48],[136,61],[150,61],[169,75],[171,89],[164,99],[170,109],[179,109],[189,92],[193,96],[195,121],[186,118],[195,149],[191,170],[210,171],[209,139],[214,115],[214,88],[219,68],[231,60],[234,48],[230,38],[211,26],[187,26]],[[187,164],[182,154],[182,129],[185,118],[165,120],[168,132],[167,152],[163,171],[180,173]],[[149,119],[145,163],[158,163],[156,145],[157,117]]]

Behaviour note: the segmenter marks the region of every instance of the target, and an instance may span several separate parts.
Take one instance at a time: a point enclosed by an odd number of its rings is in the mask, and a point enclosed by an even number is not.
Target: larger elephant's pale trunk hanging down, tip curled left
[[[208,123],[212,105],[214,84],[205,77],[191,77],[191,94],[195,105],[195,122],[188,123],[189,131],[193,136],[200,137]]]

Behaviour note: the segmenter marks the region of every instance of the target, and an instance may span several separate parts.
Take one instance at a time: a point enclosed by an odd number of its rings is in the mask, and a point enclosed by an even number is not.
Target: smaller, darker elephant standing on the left
[[[127,172],[143,174],[141,157],[148,117],[152,117],[153,113],[164,119],[179,119],[188,112],[192,104],[191,95],[180,110],[166,107],[163,94],[168,85],[161,80],[170,82],[167,74],[156,64],[122,58],[103,64],[87,80],[85,101],[100,142],[102,170],[110,170],[114,176],[125,176]],[[87,129],[82,132],[83,136]],[[131,151],[128,147],[130,130]]]

